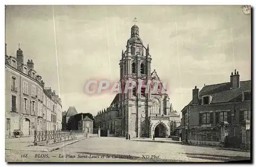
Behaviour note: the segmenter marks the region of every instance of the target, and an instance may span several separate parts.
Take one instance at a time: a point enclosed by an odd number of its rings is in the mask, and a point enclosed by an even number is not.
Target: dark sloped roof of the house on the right
[[[224,103],[242,101],[242,92],[251,91],[251,80],[240,81],[240,88],[230,89],[230,82],[222,84],[207,85],[199,92],[199,98],[201,103],[201,97],[204,95],[211,95],[211,103]],[[192,104],[192,100],[188,105]]]

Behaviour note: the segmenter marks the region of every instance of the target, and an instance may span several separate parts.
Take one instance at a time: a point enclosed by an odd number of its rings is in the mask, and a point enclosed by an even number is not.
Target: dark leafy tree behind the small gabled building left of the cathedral
[[[83,115],[83,118],[86,118],[87,116],[91,120],[94,120],[93,115],[91,113],[79,113],[69,118],[68,124],[67,124],[67,130],[78,130],[78,121],[82,120],[82,115]]]

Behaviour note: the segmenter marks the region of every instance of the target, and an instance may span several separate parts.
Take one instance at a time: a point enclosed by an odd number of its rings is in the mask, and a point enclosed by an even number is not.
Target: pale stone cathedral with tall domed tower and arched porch
[[[145,47],[139,27],[134,24],[121,54],[120,82],[157,81],[158,89],[166,91],[156,70],[151,72],[151,62],[150,48],[148,44]],[[173,109],[168,95],[162,91],[145,91],[145,88],[118,93],[111,105],[100,110],[94,118],[94,126],[101,128],[103,136],[168,137],[174,135],[175,128],[180,125],[180,115]]]

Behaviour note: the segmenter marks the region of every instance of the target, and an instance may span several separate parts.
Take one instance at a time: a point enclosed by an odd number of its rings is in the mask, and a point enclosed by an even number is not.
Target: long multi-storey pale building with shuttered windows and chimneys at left
[[[18,129],[24,135],[33,135],[35,130],[61,129],[59,96],[51,88],[45,89],[45,82],[36,73],[34,62],[28,60],[25,64],[20,48],[16,57],[5,52],[5,81],[7,136]]]

